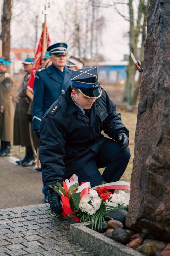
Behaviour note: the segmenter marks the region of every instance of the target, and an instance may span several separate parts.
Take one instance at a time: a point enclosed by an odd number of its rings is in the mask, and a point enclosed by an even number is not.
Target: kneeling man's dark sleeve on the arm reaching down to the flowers
[[[40,125],[40,149],[39,159],[45,177],[45,183],[56,185],[64,180],[64,157],[66,133],[64,128],[56,123],[54,117],[47,114]]]

